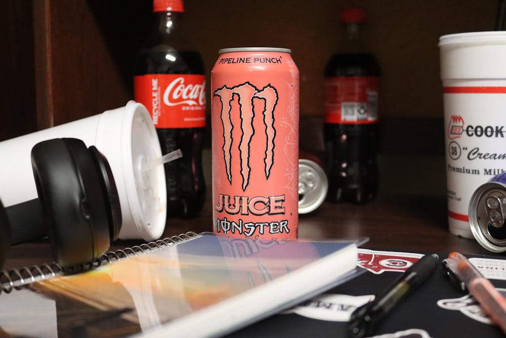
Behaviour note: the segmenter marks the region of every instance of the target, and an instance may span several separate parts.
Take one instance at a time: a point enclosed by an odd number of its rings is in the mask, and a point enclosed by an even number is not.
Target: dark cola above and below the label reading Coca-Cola
[[[204,74],[198,52],[141,51],[136,60],[136,75]],[[181,149],[183,157],[165,164],[167,216],[195,217],[205,200],[202,173],[204,128],[157,128],[162,154]]]

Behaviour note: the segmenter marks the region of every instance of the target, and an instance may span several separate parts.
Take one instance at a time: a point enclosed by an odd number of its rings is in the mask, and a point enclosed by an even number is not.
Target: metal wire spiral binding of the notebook
[[[161,250],[180,243],[191,241],[192,239],[198,237],[200,237],[200,235],[197,233],[187,232],[177,236],[135,245],[129,248],[109,251],[91,262],[71,268],[63,268],[58,263],[52,262],[51,264],[34,265],[32,267],[23,267],[21,269],[2,270],[0,271],[0,293],[10,293],[12,290],[19,290],[25,285],[45,280],[47,278],[76,274],[95,269],[102,265],[112,263],[113,261],[135,257],[151,251]]]

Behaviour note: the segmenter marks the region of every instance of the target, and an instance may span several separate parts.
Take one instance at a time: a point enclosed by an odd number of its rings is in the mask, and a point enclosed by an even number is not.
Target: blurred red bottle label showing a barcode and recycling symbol
[[[326,78],[325,123],[376,123],[378,84],[377,77]]]

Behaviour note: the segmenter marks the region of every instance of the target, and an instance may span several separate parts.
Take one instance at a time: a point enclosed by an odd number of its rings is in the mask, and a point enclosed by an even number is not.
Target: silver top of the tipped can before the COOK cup
[[[469,203],[469,224],[478,243],[492,252],[506,251],[506,186],[487,182]]]

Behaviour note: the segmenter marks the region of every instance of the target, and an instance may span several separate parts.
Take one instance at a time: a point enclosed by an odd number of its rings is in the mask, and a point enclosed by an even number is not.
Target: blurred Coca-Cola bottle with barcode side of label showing
[[[378,84],[381,70],[365,52],[359,29],[366,21],[361,8],[341,13],[346,28],[343,48],[328,60],[325,71],[325,165],[327,200],[365,203],[376,196],[379,173]]]

